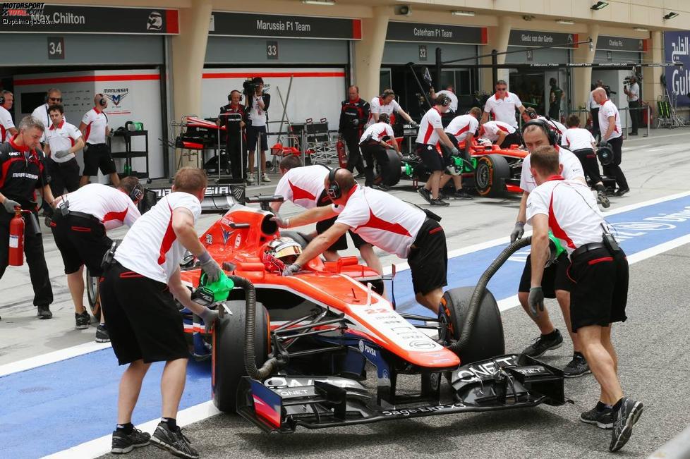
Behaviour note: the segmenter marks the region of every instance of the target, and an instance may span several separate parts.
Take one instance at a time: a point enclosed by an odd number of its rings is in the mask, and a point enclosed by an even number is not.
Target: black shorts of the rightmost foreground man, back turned
[[[579,255],[568,270],[573,331],[588,325],[625,322],[628,302],[628,260],[621,251],[612,257],[605,248]]]

